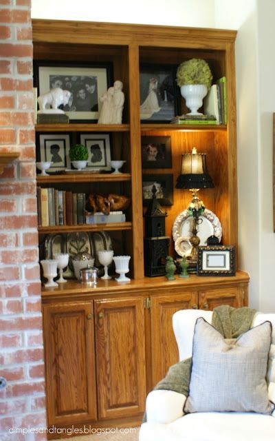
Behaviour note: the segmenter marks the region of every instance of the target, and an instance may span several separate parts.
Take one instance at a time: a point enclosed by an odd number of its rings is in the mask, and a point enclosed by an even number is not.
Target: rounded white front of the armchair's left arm
[[[147,422],[168,424],[184,415],[186,396],[179,392],[158,390],[148,393],[146,398]]]

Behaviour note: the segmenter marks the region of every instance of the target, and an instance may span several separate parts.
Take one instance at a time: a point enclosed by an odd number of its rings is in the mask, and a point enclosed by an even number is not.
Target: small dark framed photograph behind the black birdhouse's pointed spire
[[[154,192],[160,205],[173,205],[173,174],[143,174],[143,205],[148,205]]]

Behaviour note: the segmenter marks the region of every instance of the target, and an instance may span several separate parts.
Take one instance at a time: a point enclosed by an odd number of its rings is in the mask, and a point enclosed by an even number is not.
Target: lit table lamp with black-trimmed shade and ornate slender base
[[[197,260],[197,247],[200,239],[197,236],[197,225],[202,222],[199,218],[204,212],[203,202],[200,201],[197,192],[201,188],[212,188],[214,184],[207,172],[206,154],[197,153],[196,147],[192,148],[192,153],[182,155],[181,174],[177,178],[176,188],[189,189],[192,192],[192,201],[188,207],[188,212],[193,218],[192,236],[190,243],[192,244],[192,251],[190,253],[191,260]]]

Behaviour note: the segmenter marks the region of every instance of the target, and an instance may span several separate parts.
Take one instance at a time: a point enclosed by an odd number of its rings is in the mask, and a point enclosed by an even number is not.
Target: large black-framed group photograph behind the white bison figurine
[[[53,65],[36,62],[34,83],[39,96],[54,88],[69,90],[69,103],[63,110],[70,122],[97,121],[102,96],[111,84],[110,66],[96,65]]]

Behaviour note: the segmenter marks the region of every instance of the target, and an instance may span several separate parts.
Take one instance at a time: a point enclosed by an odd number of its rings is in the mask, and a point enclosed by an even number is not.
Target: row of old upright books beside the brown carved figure
[[[85,193],[37,187],[39,227],[86,223],[85,204]]]

